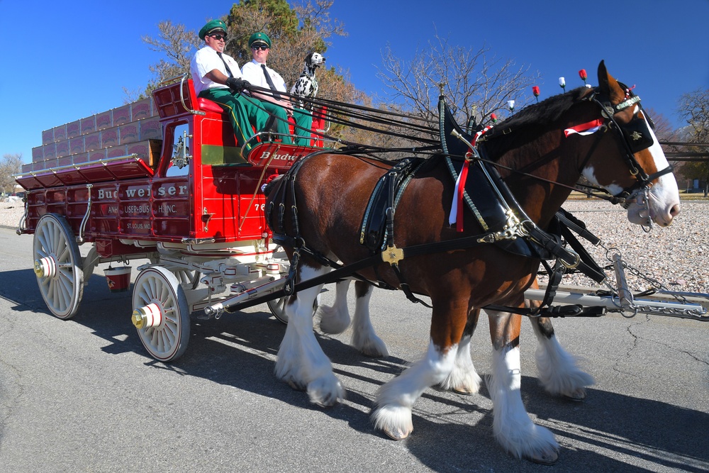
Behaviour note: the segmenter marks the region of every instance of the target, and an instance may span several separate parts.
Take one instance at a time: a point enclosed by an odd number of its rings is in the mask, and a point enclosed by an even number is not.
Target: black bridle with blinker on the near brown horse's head
[[[650,148],[653,143],[653,135],[650,132],[648,125],[652,123],[647,113],[643,113],[646,119],[637,117],[637,113],[634,119],[623,125],[615,120],[615,113],[620,113],[626,108],[634,106],[637,104],[639,112],[642,111],[642,106],[640,105],[640,97],[633,94],[632,91],[622,82],[618,82],[620,87],[625,90],[625,101],[620,102],[618,105],[613,105],[610,102],[610,97],[601,94],[601,89],[596,87],[593,92],[586,97],[586,100],[593,101],[601,107],[601,116],[605,118],[605,126],[611,130],[615,130],[620,143],[623,143],[625,148],[625,155],[623,155],[623,160],[628,169],[630,169],[630,174],[635,177],[635,184],[632,186],[625,187],[618,194],[613,197],[617,199],[618,203],[623,206],[623,208],[628,208],[633,198],[640,194],[644,194],[644,206],[648,210],[648,220],[649,220],[649,202],[647,200],[650,187],[652,187],[652,181],[658,177],[664,176],[664,174],[669,174],[672,172],[672,166],[668,165],[666,168],[661,169],[652,174],[647,174],[643,169],[640,162],[635,159],[635,153]],[[644,111],[643,111],[644,112]],[[653,127],[654,128],[654,127]],[[583,166],[582,166],[583,167]]]

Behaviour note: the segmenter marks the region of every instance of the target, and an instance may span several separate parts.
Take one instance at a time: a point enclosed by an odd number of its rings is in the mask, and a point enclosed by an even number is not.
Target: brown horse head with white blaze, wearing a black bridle
[[[621,163],[608,163],[609,156],[584,163],[582,174],[613,196],[622,199],[631,223],[669,226],[680,211],[679,190],[671,167],[653,133],[652,120],[640,106],[640,97],[598,65],[598,87],[587,99],[601,106],[606,131],[620,141]],[[616,143],[617,145],[618,143]],[[603,161],[603,165],[601,165]],[[618,166],[630,169],[618,173]],[[615,169],[614,169],[615,168]]]

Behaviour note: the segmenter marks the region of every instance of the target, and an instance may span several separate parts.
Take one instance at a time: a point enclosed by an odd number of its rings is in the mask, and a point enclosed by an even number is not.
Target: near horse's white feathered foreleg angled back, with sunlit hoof
[[[384,430],[394,440],[408,437],[413,431],[413,404],[426,388],[442,382],[450,374],[456,353],[457,345],[441,353],[431,341],[423,360],[381,386],[376,392],[376,408],[372,413],[374,427]]]

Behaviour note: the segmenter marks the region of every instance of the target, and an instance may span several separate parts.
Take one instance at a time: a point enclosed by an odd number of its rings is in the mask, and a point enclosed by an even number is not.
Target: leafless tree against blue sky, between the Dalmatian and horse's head
[[[461,125],[474,117],[477,123],[490,121],[490,114],[506,116],[507,102],[527,103],[523,93],[539,79],[529,67],[516,67],[513,60],[489,56],[490,49],[464,48],[435,35],[428,48],[417,50],[406,62],[391,47],[382,52],[378,76],[391,89],[393,99],[416,116],[437,120],[436,104],[440,87]]]

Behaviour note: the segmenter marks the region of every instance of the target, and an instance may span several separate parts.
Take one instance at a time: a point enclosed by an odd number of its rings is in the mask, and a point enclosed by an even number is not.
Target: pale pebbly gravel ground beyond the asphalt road
[[[683,201],[682,211],[671,226],[653,226],[649,233],[628,222],[623,208],[605,201],[569,200],[564,208],[603,240],[603,247],[586,245],[599,265],[610,263],[604,247],[616,247],[627,265],[672,291],[709,292],[709,201]],[[0,202],[0,226],[16,228],[22,213],[22,204]],[[606,274],[615,281],[612,271]],[[632,291],[652,287],[630,271],[626,271],[626,277]],[[598,286],[579,274],[564,276],[562,284]]]

